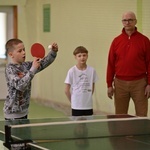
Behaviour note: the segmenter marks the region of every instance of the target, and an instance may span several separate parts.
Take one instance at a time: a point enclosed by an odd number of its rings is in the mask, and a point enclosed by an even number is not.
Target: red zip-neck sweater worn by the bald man
[[[125,81],[147,77],[150,84],[150,41],[137,28],[130,37],[123,29],[111,44],[107,66],[108,87],[112,86],[114,77]]]

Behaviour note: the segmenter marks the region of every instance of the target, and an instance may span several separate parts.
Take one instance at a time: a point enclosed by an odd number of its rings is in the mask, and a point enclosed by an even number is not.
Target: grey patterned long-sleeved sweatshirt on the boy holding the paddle
[[[8,119],[20,118],[28,114],[31,95],[31,80],[34,75],[48,67],[57,56],[50,51],[41,60],[40,67],[32,72],[32,62],[23,62],[21,65],[9,63],[5,69],[8,94],[4,103],[4,117]]]

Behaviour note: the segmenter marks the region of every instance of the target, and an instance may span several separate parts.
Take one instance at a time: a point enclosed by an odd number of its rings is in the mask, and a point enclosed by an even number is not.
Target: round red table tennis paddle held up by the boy
[[[43,58],[45,56],[45,49],[40,43],[34,43],[31,46],[31,55],[37,58]]]

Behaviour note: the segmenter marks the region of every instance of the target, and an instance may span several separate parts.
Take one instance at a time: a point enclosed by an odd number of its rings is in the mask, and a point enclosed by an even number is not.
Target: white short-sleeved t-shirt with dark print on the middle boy
[[[86,70],[79,70],[76,66],[69,69],[65,79],[71,85],[71,108],[92,109],[92,86],[98,80],[94,68],[87,66]]]

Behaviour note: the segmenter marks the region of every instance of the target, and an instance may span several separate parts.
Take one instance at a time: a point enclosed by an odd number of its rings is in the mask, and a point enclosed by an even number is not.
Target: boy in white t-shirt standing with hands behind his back
[[[93,67],[86,64],[88,50],[77,47],[73,52],[77,64],[69,69],[65,79],[65,94],[71,102],[72,116],[93,115],[92,94],[98,77]]]

